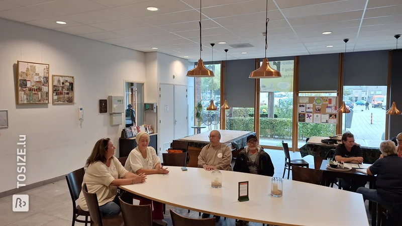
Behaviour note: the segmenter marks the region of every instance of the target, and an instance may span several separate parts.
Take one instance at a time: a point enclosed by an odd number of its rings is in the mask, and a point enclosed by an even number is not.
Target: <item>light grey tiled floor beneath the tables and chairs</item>
[[[275,175],[282,177],[284,167],[283,151],[266,150],[271,156],[272,163],[275,167]],[[300,153],[290,153],[291,158],[301,158]],[[304,158],[310,163],[310,168],[314,168],[312,156]],[[291,174],[290,178],[291,179]],[[335,189],[335,188],[334,188]],[[12,196],[0,199],[0,226],[70,226],[72,219],[72,202],[65,180],[60,180],[52,184],[44,185],[31,189],[23,194],[29,194],[29,211],[13,212]],[[198,212],[181,209],[173,206],[166,206],[165,220],[168,225],[172,225],[169,208],[177,213],[189,217],[198,217]],[[75,225],[84,225],[76,223]],[[217,225],[235,225],[234,219],[223,218]],[[262,225],[261,223],[250,223],[252,226]]]

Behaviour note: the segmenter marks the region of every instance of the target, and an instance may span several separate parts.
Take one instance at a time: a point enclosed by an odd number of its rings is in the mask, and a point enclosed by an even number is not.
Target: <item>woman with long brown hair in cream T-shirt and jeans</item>
[[[99,210],[104,215],[119,214],[121,211],[117,186],[143,183],[146,180],[144,174],[135,175],[124,169],[113,156],[115,149],[109,138],[100,139],[85,164],[87,168],[82,184],[86,183],[89,193],[96,193]],[[82,192],[78,204],[81,209],[88,211]]]

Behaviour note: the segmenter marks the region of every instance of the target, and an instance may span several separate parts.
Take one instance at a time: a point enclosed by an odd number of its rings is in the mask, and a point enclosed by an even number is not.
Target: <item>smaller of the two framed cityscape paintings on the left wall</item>
[[[74,76],[52,75],[52,103],[74,104]]]

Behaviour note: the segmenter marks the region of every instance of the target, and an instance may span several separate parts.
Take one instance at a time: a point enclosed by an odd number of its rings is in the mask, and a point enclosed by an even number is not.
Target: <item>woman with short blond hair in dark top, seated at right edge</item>
[[[375,182],[377,190],[359,187],[357,193],[389,208],[394,203],[402,203],[402,158],[398,157],[393,141],[383,141],[380,144],[382,158],[377,159],[367,168],[368,175],[377,175]]]

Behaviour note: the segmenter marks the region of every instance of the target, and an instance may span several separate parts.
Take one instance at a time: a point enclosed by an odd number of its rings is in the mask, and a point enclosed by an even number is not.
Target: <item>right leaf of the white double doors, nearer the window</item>
[[[174,139],[187,136],[187,86],[174,86]]]

